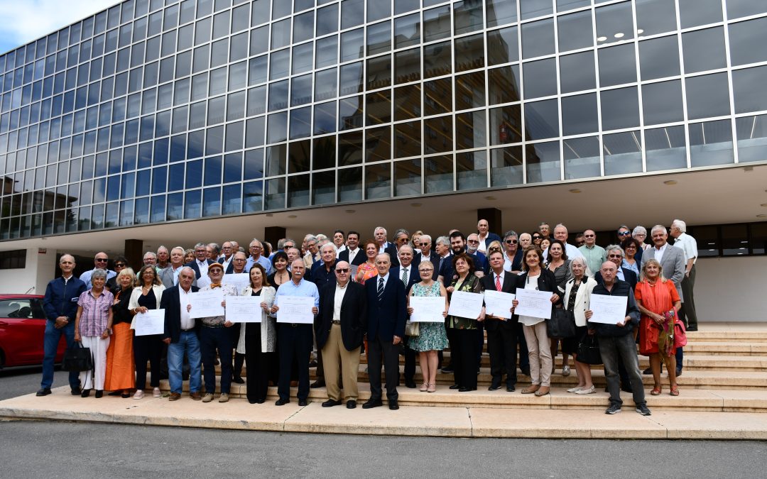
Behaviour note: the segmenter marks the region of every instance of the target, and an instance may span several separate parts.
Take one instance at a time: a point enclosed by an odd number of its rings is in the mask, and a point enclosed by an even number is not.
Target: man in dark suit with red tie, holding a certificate
[[[503,269],[503,253],[493,251],[490,256],[490,273],[482,277],[485,290],[516,294],[517,278]],[[506,373],[506,391],[513,392],[517,382],[517,323],[518,317],[505,319],[486,310],[485,330],[487,332],[487,350],[490,353],[490,375],[492,382],[489,391],[501,389],[503,373]],[[510,313],[510,312],[509,312]]]

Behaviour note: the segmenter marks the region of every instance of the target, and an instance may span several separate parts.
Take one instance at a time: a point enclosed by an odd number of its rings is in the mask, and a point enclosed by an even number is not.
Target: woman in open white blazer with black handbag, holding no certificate
[[[578,362],[578,343],[588,334],[586,310],[591,300],[591,290],[597,285],[593,277],[588,276],[588,266],[582,257],[570,261],[571,279],[565,284],[565,309],[572,311],[575,317],[575,336],[562,341],[562,351],[575,359],[575,371],[578,373],[578,385],[568,389],[575,394],[593,394],[596,392],[591,382],[591,366]]]

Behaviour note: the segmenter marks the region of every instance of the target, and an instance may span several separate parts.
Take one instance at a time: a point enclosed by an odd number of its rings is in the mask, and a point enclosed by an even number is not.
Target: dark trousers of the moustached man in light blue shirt
[[[277,393],[280,399],[290,399],[291,364],[298,367],[298,399],[309,397],[309,353],[314,338],[311,324],[278,323],[277,342],[279,344],[280,379]],[[245,349],[247,352],[247,349]],[[250,368],[250,365],[248,366]]]

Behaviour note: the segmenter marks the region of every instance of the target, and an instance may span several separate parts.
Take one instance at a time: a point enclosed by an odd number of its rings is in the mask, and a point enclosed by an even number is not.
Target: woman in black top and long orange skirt
[[[128,309],[135,279],[136,275],[130,267],[117,273],[112,303],[113,334],[107,349],[107,377],[104,379],[104,389],[112,391],[109,395],[121,395],[123,398],[130,398],[130,390],[136,387],[133,331],[130,330],[133,314]]]

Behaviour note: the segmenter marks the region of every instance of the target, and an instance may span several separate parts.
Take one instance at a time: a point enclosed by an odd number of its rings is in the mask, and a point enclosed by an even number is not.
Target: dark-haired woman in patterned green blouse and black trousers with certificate
[[[453,255],[453,271],[457,277],[447,287],[447,294],[453,295],[458,291],[466,293],[482,292],[479,277],[474,275],[474,262],[468,254]],[[477,389],[477,349],[479,348],[479,329],[477,323],[485,320],[485,313],[479,317],[468,318],[450,315],[447,317],[447,327],[453,328],[455,341],[450,354],[453,356],[453,369],[456,384],[450,389],[459,392],[476,391]]]

